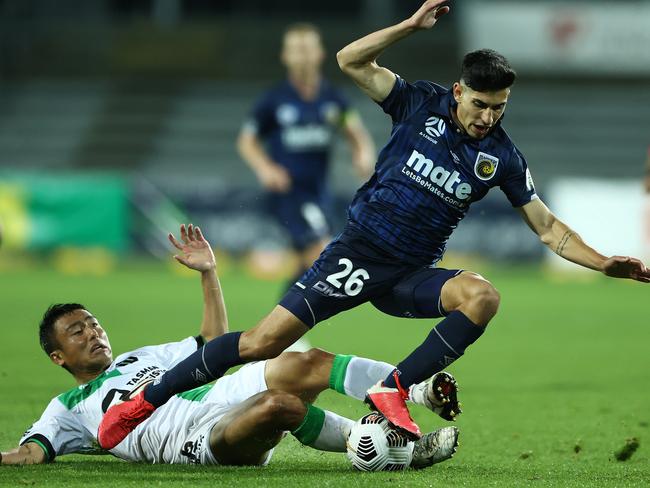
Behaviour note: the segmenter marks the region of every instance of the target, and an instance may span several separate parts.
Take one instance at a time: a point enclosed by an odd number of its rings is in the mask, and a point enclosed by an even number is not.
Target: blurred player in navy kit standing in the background
[[[237,141],[241,157],[267,190],[269,209],[287,230],[299,258],[297,276],[311,266],[331,238],[327,168],[334,135],[342,131],[364,181],[375,149],[359,115],[321,74],[325,51],[316,26],[287,28],[282,64],[287,79],[255,104]]]

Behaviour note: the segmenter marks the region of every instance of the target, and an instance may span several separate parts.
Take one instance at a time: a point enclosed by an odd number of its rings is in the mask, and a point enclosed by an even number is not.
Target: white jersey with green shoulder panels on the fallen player
[[[25,432],[20,445],[39,444],[48,461],[71,453],[102,453],[97,430],[106,410],[125,400],[142,386],[197,350],[200,338],[188,337],[180,342],[147,346],[118,356],[94,380],[54,398],[41,418]],[[116,455],[118,445],[111,451]]]

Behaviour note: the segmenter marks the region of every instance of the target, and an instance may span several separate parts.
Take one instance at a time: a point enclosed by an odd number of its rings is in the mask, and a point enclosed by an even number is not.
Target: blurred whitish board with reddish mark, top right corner
[[[464,52],[491,48],[521,73],[650,74],[649,2],[466,2]]]

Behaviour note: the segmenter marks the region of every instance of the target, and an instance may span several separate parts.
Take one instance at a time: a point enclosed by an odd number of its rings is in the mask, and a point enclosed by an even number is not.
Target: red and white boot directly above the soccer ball
[[[396,373],[393,375],[397,388],[386,387],[380,381],[366,392],[366,403],[386,417],[386,420],[406,437],[418,440],[422,437],[422,432],[406,406],[408,392],[400,386]]]

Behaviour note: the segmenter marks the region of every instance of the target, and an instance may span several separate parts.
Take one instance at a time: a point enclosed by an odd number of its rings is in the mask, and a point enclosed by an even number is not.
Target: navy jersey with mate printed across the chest
[[[500,124],[473,139],[454,123],[452,93],[399,76],[380,103],[393,119],[375,173],[354,197],[349,225],[412,264],[438,261],[472,202],[499,186],[519,207],[536,198],[523,155]]]

